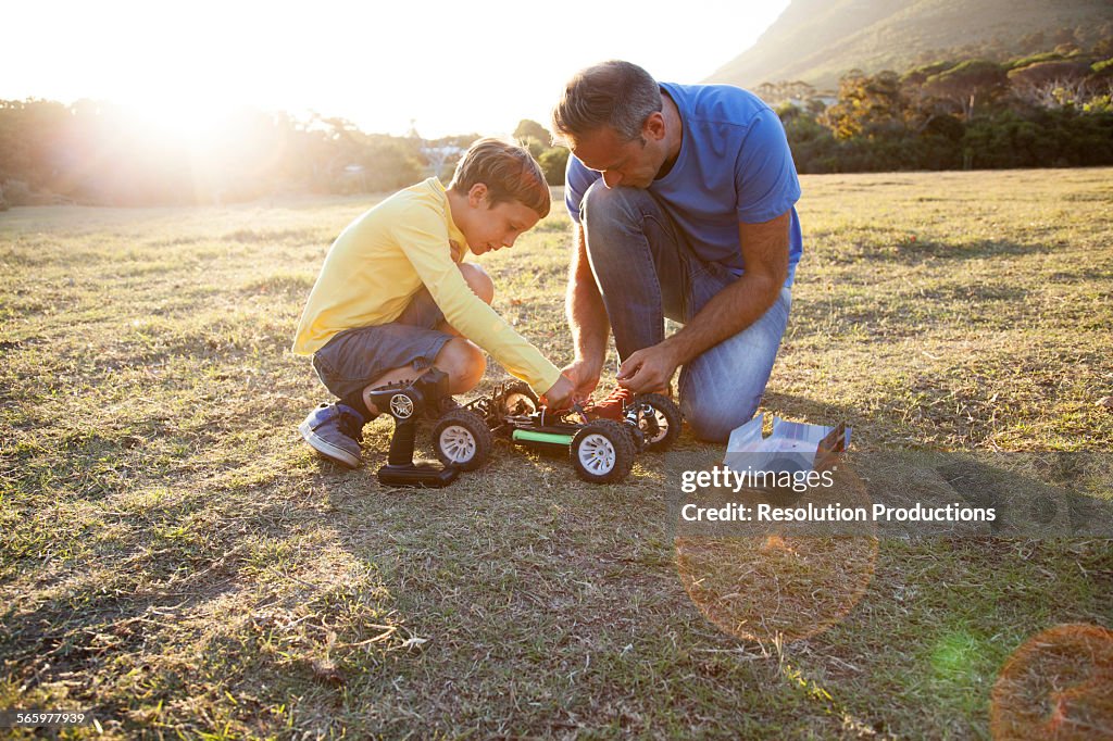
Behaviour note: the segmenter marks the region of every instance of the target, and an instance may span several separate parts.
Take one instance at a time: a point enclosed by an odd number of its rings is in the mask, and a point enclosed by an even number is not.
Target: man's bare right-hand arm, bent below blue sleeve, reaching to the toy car
[[[677,367],[757,322],[777,300],[788,277],[790,214],[762,224],[738,224],[746,273],[720,290],[684,327],[664,342],[633,353],[619,383],[634,393],[668,386]]]

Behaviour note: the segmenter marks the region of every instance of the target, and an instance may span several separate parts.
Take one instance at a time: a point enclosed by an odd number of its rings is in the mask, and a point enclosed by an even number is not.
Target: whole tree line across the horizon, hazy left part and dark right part
[[[785,122],[800,172],[1113,165],[1113,39],[1007,61],[853,70],[837,92],[804,82],[756,90]],[[568,150],[536,121],[514,137],[564,181]],[[366,134],[343,118],[237,111],[211,136],[157,132],[82,100],[0,100],[0,208],[232,202],[283,192],[388,191],[451,176],[477,134]]]

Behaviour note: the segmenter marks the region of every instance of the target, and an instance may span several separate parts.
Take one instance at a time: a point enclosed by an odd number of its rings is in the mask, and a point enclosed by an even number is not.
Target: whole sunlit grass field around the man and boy
[[[863,451],[1113,449],[1113,170],[802,181],[765,411]],[[719,630],[716,561],[668,521],[677,462],[722,453],[687,433],[613,486],[500,447],[384,490],[388,421],[362,470],[312,456],[325,393],[288,346],[370,202],[0,214],[0,709],[93,709],[104,738],[979,739],[1025,641],[1113,626],[1109,541],[858,539],[718,553],[776,595]],[[483,258],[556,360],[567,231]],[[1078,738],[1113,734],[1096,676]]]

